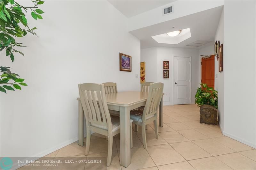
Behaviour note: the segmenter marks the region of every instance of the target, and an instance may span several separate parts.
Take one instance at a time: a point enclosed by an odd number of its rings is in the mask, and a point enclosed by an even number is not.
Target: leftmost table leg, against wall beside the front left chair
[[[84,145],[84,110],[81,101],[78,101],[78,144]]]

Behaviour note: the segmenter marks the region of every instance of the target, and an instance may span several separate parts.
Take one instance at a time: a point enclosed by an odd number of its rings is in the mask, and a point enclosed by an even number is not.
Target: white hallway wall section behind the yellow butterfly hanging
[[[140,62],[146,62],[146,82],[157,82],[157,48],[141,49]]]

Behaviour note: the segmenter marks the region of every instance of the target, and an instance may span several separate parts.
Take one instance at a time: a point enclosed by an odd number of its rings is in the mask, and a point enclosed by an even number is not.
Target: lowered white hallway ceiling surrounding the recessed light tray
[[[217,31],[222,8],[223,6],[219,6],[216,8],[194,13],[184,17],[165,21],[152,26],[147,26],[144,28],[133,30],[130,31],[130,33],[140,39],[140,48],[176,47],[197,49],[200,47],[187,45],[191,45],[191,43],[195,41],[214,41],[214,36]],[[178,44],[158,43],[152,38],[152,36],[155,35],[164,34],[186,28],[190,28],[191,37]]]

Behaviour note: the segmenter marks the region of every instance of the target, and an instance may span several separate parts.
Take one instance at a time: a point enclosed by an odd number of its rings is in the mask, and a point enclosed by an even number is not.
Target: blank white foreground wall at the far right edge
[[[225,0],[224,33],[223,134],[256,148],[256,1]]]

